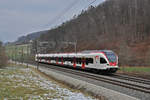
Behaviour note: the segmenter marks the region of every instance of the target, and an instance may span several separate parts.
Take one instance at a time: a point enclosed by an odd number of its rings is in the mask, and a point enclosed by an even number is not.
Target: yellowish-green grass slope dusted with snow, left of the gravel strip
[[[0,99],[8,100],[47,100],[69,98],[81,94],[79,90],[68,88],[66,85],[54,81],[36,69],[26,66],[13,67],[0,70]],[[83,95],[91,98],[89,95]]]

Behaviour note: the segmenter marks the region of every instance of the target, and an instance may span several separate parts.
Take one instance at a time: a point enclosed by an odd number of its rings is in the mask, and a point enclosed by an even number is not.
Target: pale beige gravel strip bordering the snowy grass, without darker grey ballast
[[[33,66],[33,67],[36,67],[36,66]],[[59,81],[62,81],[66,84],[73,85],[74,87],[81,89],[81,90],[84,89],[85,91],[94,93],[95,95],[104,96],[108,100],[139,100],[135,97],[128,96],[126,94],[122,94],[111,89],[104,88],[100,85],[91,84],[87,82],[88,79],[82,80],[82,78],[79,76],[74,77],[76,75],[69,75],[67,73],[63,73],[60,71],[56,71],[56,70],[41,67],[41,66],[39,66],[39,70],[41,72],[44,72],[47,75],[50,75],[50,77],[53,77]]]

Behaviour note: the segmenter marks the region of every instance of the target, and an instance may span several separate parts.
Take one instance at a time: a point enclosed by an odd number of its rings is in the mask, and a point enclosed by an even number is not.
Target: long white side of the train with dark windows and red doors
[[[116,72],[118,69],[117,64],[110,65],[110,61],[103,53],[39,54],[36,55],[35,61],[56,65],[68,65],[74,68],[106,70],[110,72],[111,70],[112,72]]]

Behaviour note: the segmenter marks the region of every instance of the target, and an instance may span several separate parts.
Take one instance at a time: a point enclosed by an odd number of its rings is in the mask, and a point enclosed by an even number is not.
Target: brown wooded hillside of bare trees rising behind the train
[[[150,65],[150,0],[106,0],[49,30],[40,41],[56,43],[49,52],[111,49],[122,65]]]

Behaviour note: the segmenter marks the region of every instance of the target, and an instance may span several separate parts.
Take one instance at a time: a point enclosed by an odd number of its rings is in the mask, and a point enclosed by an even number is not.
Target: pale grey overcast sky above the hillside
[[[92,1],[95,0],[0,0],[0,40],[14,41],[19,36],[50,29],[79,14]]]

